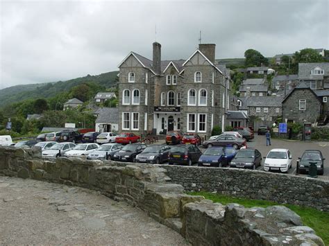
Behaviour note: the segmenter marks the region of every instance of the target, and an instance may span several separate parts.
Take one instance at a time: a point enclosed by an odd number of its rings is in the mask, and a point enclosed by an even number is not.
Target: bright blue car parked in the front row
[[[211,147],[201,155],[198,166],[228,166],[236,154],[237,150],[235,148]]]

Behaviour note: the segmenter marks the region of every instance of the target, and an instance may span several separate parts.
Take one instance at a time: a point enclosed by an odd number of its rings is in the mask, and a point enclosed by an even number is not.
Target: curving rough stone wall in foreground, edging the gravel
[[[125,166],[65,157],[44,161],[40,148],[0,147],[0,175],[82,186],[115,200],[126,200],[178,231],[192,245],[324,245],[286,207],[223,206],[201,196],[186,195],[183,186],[169,183],[165,172],[158,165]]]

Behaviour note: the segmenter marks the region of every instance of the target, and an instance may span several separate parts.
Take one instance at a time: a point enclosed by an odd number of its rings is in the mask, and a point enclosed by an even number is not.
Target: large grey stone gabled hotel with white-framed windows
[[[215,44],[200,44],[187,60],[161,60],[155,42],[153,60],[130,52],[118,67],[119,132],[210,137],[214,125],[224,128],[233,97],[229,70],[215,64]]]

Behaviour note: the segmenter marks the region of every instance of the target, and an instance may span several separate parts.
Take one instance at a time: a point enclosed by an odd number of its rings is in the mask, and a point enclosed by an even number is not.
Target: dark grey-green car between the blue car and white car
[[[262,165],[262,154],[256,149],[239,150],[237,155],[230,162],[231,168],[251,168],[256,169]]]

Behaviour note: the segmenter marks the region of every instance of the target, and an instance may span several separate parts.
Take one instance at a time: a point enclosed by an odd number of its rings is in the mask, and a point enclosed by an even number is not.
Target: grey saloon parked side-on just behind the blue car
[[[217,139],[209,139],[203,141],[202,145],[205,148],[210,148],[212,146],[221,146],[221,147],[233,147],[236,150],[246,146],[246,139],[240,139],[233,135],[222,134]]]

